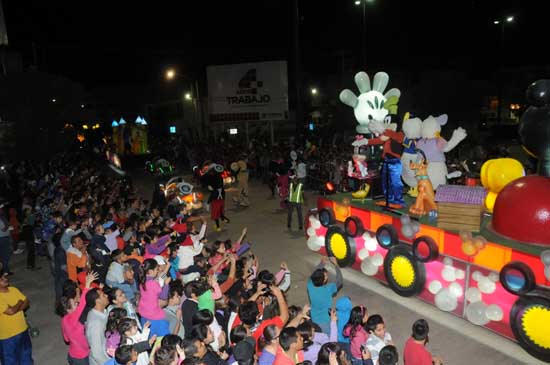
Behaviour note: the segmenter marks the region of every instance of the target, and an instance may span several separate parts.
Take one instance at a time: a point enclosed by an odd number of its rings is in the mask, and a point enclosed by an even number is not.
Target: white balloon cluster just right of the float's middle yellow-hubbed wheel
[[[450,282],[449,286],[444,288],[439,280],[432,280],[428,284],[428,291],[435,295],[434,301],[437,308],[452,312],[458,307],[458,298],[464,294],[464,289],[457,280],[463,280],[466,273],[464,270],[453,267],[453,260],[450,257],[445,257],[443,264],[441,277],[444,281]]]

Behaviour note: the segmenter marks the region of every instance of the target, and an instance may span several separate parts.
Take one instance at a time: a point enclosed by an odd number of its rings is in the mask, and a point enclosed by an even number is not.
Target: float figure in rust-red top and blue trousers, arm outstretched
[[[403,152],[403,132],[386,129],[383,134],[367,140],[370,145],[383,145],[382,150],[382,189],[388,203],[405,206],[403,182],[401,181],[401,153]]]

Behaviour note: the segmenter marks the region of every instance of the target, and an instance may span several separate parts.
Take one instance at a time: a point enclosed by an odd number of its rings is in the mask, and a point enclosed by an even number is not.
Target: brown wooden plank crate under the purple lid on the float
[[[438,203],[437,227],[453,231],[479,232],[481,205],[460,203]]]

